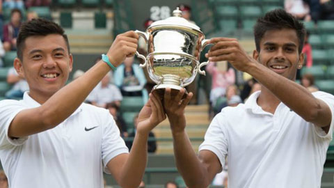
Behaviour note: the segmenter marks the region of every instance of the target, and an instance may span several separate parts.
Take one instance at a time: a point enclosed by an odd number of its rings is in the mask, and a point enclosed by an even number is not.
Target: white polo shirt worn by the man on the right
[[[259,91],[250,95],[246,104],[218,113],[199,150],[211,150],[221,164],[228,155],[229,188],[320,187],[332,139],[334,96],[312,94],[331,109],[328,134],[282,102],[274,114],[263,111],[256,102]]]

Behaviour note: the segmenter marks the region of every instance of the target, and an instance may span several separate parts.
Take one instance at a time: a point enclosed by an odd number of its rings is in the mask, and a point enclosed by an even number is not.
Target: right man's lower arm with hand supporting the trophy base
[[[170,88],[166,89],[164,95],[164,108],[173,134],[176,165],[188,187],[203,188],[212,182],[221,165],[213,152],[202,150],[199,156],[194,152],[184,130],[186,127],[184,108],[191,99],[192,93],[189,93],[184,100],[181,100],[182,95],[184,90],[172,98]]]

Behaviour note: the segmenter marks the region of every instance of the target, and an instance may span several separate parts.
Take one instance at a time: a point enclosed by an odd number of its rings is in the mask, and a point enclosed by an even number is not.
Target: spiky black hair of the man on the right
[[[257,19],[254,26],[257,52],[260,52],[260,40],[263,38],[264,33],[273,29],[294,29],[299,40],[298,51],[301,53],[304,44],[305,27],[303,23],[299,22],[293,15],[285,12],[283,9],[271,10],[263,17]]]

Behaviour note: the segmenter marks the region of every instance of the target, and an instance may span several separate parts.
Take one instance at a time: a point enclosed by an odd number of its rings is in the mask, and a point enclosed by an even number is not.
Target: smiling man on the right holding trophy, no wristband
[[[164,109],[170,121],[177,168],[191,188],[207,187],[228,156],[228,187],[320,187],[332,139],[334,97],[310,93],[294,82],[303,64],[305,29],[284,10],[257,20],[253,58],[231,38],[213,38],[209,61],[229,61],[260,84],[245,104],[226,107],[212,120],[196,156],[184,130],[181,91]],[[191,93],[187,95],[187,99]],[[181,103],[180,103],[181,102]]]

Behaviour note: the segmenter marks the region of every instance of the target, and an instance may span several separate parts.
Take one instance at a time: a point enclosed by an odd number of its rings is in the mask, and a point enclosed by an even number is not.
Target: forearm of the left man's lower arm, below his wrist
[[[138,187],[145,173],[147,158],[148,134],[137,132],[127,162],[122,167],[119,182],[121,187]]]

